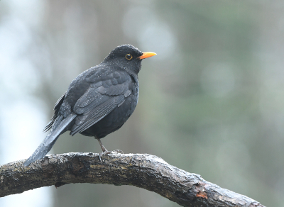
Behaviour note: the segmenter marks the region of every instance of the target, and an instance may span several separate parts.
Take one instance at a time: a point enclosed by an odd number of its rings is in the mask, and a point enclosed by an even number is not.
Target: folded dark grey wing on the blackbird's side
[[[81,133],[120,106],[131,94],[131,77],[126,73],[113,72],[101,84],[91,84],[76,102],[73,111],[77,113],[70,135]]]

